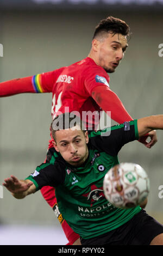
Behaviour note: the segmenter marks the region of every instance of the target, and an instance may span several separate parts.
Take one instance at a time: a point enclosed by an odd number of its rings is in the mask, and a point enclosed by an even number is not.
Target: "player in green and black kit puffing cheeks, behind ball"
[[[119,209],[104,197],[103,179],[118,164],[124,144],[151,130],[163,130],[163,115],[87,131],[70,114],[53,120],[54,148],[26,180],[14,175],[4,186],[21,199],[42,186],[54,186],[59,209],[82,245],[163,245],[163,226],[140,206]],[[68,121],[67,121],[68,120]]]

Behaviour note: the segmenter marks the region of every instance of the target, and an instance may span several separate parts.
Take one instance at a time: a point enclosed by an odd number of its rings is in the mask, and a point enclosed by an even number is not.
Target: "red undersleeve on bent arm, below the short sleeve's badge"
[[[117,123],[122,124],[124,121],[133,120],[119,97],[109,88],[96,87],[92,92],[92,97],[105,112],[111,112],[111,119]]]

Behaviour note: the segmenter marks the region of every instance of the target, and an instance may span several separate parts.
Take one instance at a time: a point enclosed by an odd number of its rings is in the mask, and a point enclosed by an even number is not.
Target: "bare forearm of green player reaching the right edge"
[[[137,120],[139,137],[152,130],[163,130],[163,115],[151,115]]]

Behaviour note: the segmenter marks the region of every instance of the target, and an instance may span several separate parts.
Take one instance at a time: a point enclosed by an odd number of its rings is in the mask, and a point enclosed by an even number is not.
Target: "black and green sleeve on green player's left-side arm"
[[[36,191],[43,186],[57,187],[65,181],[65,171],[59,164],[42,163],[26,180],[33,181]]]

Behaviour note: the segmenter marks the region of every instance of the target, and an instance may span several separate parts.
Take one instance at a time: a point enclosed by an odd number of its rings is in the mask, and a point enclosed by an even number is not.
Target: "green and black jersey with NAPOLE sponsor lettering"
[[[129,221],[140,206],[118,209],[105,199],[103,179],[118,164],[117,154],[124,144],[138,139],[137,120],[89,132],[89,157],[80,167],[68,164],[54,148],[46,163],[27,179],[36,189],[55,187],[59,210],[70,227],[84,239],[107,233]]]

